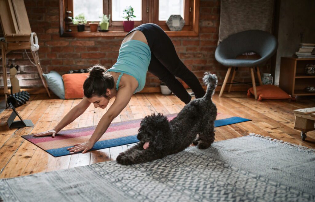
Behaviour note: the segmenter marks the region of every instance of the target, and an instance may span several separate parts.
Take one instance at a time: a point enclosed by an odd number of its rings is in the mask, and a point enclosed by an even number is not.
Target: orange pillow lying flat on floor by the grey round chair
[[[262,99],[290,99],[291,97],[276,85],[256,86],[258,101]],[[247,95],[254,95],[253,88],[247,90]]]

